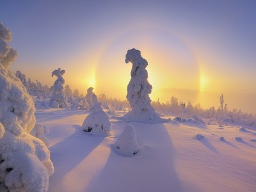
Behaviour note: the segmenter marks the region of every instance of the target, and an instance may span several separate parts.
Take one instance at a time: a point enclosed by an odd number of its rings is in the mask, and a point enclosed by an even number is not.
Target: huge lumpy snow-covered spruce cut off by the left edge
[[[8,68],[17,53],[11,32],[0,22],[0,191],[47,191],[53,174],[50,151],[32,136],[34,102]]]

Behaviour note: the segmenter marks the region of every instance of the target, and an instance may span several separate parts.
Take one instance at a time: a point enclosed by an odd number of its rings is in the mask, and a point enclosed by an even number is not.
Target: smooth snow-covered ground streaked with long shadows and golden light
[[[134,123],[116,111],[112,132],[102,137],[83,132],[88,114],[36,105],[36,123],[50,129],[55,171],[48,191],[256,191],[255,127]],[[128,124],[139,148],[131,157],[114,147]]]

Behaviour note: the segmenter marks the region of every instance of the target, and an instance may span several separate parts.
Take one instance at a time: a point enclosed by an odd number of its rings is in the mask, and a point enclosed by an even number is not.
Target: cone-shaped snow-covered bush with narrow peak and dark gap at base
[[[106,135],[110,133],[112,125],[109,116],[101,108],[101,103],[98,103],[95,94],[92,95],[92,107],[90,111],[90,114],[83,121],[83,130],[90,132],[90,135]]]

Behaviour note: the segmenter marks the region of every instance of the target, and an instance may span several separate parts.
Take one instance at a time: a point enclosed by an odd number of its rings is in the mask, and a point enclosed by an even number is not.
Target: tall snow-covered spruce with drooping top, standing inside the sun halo
[[[125,114],[123,118],[127,121],[139,121],[144,123],[163,123],[168,120],[162,119],[155,109],[151,106],[149,94],[152,91],[152,85],[148,82],[146,67],[147,60],[141,57],[141,51],[128,50],[126,54],[126,63],[132,63],[130,72],[130,82],[127,86],[126,98],[130,103],[132,110]]]

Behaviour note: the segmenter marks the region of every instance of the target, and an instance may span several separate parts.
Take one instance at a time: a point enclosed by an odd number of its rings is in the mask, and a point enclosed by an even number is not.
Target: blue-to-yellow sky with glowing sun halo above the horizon
[[[201,96],[192,103],[218,107],[219,96],[210,101],[203,95],[223,93],[232,95],[230,109],[256,112],[255,7],[256,1],[242,0],[2,0],[0,19],[19,54],[11,70],[43,84],[53,84],[51,72],[60,67],[72,89],[85,92],[97,82],[98,94],[124,99],[131,68],[124,57],[138,48],[149,62],[153,100],[168,100],[171,89],[196,90]],[[115,89],[123,94],[109,91]]]

